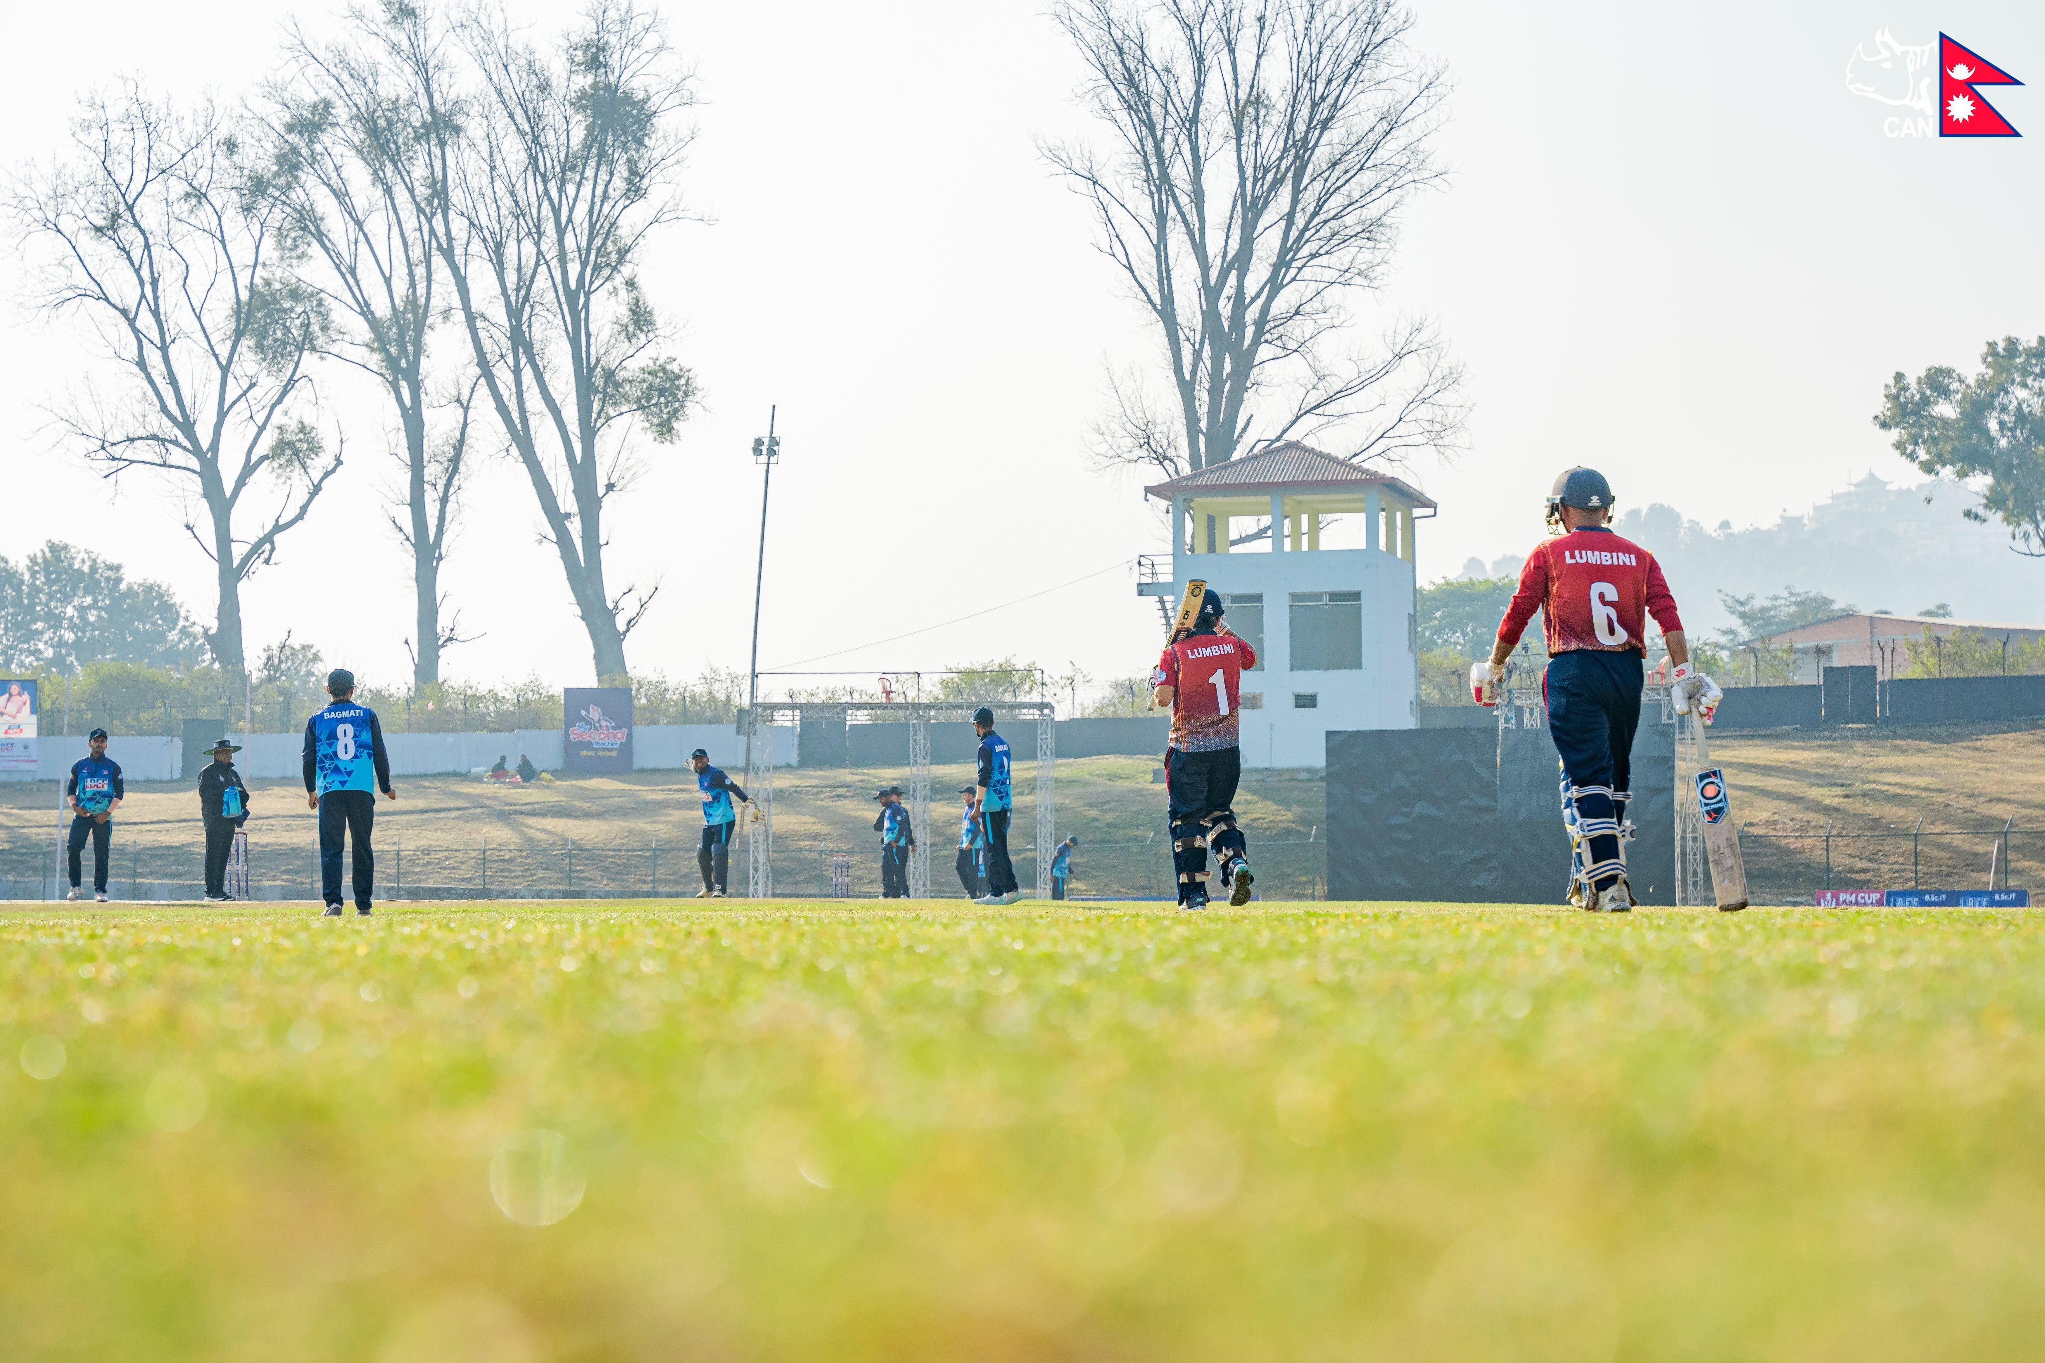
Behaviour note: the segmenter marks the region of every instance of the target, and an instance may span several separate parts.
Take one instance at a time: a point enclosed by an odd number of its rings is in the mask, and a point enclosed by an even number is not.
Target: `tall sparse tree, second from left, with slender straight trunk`
[[[442,652],[464,642],[460,613],[446,613],[440,570],[468,468],[474,394],[474,382],[436,394],[427,372],[448,178],[444,139],[405,74],[415,63],[444,67],[444,41],[411,4],[356,6],[348,16],[348,43],[290,29],[288,67],[258,104],[262,190],[325,266],[307,278],[354,323],[335,331],[327,354],[362,370],[397,411],[403,448],[393,454],[405,490],[391,523],[411,550],[413,687],[429,687]],[[452,411],[452,429],[434,429],[436,407]]]

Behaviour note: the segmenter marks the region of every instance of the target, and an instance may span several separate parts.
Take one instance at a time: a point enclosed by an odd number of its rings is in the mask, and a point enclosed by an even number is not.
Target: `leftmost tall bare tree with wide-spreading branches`
[[[292,274],[280,210],[249,192],[241,139],[215,108],[178,114],[127,84],[84,102],[72,145],[10,196],[41,257],[39,304],[78,317],[117,374],[57,423],[108,476],[155,470],[198,495],[207,531],[190,501],[184,529],[215,564],[207,644],[243,672],[241,582],[342,466],[307,421],[325,304]],[[262,503],[243,517],[254,533],[235,527],[245,497]]]

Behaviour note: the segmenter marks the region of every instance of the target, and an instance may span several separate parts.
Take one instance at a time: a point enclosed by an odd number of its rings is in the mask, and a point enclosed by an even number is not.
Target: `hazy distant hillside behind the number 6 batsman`
[[[1732,625],[1718,593],[1771,597],[1785,586],[1867,611],[1918,613],[1943,603],[1971,619],[2045,619],[2045,560],[2012,554],[2002,525],[1963,519],[1971,505],[1978,499],[1957,482],[1892,486],[1869,474],[1775,525],[1706,529],[1650,503],[1622,511],[1616,529],[1654,550],[1693,633]],[[1517,554],[1489,566],[1472,558],[1462,576],[1517,566]]]

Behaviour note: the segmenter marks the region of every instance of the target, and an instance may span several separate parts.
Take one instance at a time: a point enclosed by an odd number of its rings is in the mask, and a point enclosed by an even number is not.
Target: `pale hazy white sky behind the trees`
[[[681,327],[703,411],[611,509],[614,582],[661,578],[636,668],[744,666],[759,531],[748,443],[781,409],[761,666],[982,611],[1164,550],[1139,480],[1096,472],[1106,364],[1149,362],[1135,307],[1080,202],[1037,155],[1086,135],[1078,65],[1039,4],[671,2],[695,65],[683,190],[708,223],[646,274]],[[1524,554],[1554,472],[1597,464],[1622,503],[1716,525],[1773,521],[1869,468],[1906,466],[1869,425],[1894,370],[1971,366],[1992,335],[2045,331],[2045,12],[2018,4],[1421,4],[1454,80],[1450,186],[1407,217],[1366,329],[1423,311],[1468,366],[1470,450],[1411,470],[1442,515],[1423,578]],[[76,94],[119,74],[237,98],[272,67],[280,14],[329,4],[43,6],[12,16],[0,161],[55,153]],[[564,6],[513,4],[550,33]],[[2027,88],[1994,102],[2025,139],[1890,139],[1898,112],[1847,90],[1877,29],[1939,29]],[[211,619],[211,564],[170,484],[112,495],[53,443],[45,409],[86,372],[18,280],[0,333],[8,486],[0,554],[61,537],[170,582]],[[409,676],[409,554],[382,519],[391,466],[372,401],[327,384],[350,468],[280,562],[245,586],[252,650],[286,629],[378,680]],[[29,497],[20,492],[29,490]],[[524,474],[474,484],[446,589],[483,631],[454,676],[589,676]],[[2012,560],[2012,572],[2037,572]],[[1675,582],[1679,599],[1710,582]],[[1967,603],[1953,601],[1965,615]],[[1018,654],[1096,676],[1149,666],[1155,607],[1127,570],[810,666],[879,670]]]

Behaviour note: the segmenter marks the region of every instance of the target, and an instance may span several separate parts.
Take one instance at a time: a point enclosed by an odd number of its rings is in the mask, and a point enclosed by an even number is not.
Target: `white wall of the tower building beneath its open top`
[[[1243,672],[1243,691],[1264,697],[1243,711],[1243,766],[1323,766],[1329,730],[1411,730],[1419,678],[1413,656],[1413,564],[1380,550],[1303,550],[1282,554],[1178,554],[1178,589],[1207,578],[1221,595],[1264,595],[1262,668]],[[1290,666],[1290,595],[1362,593],[1364,666],[1301,670]],[[1294,709],[1294,693],[1315,693],[1315,709]]]

